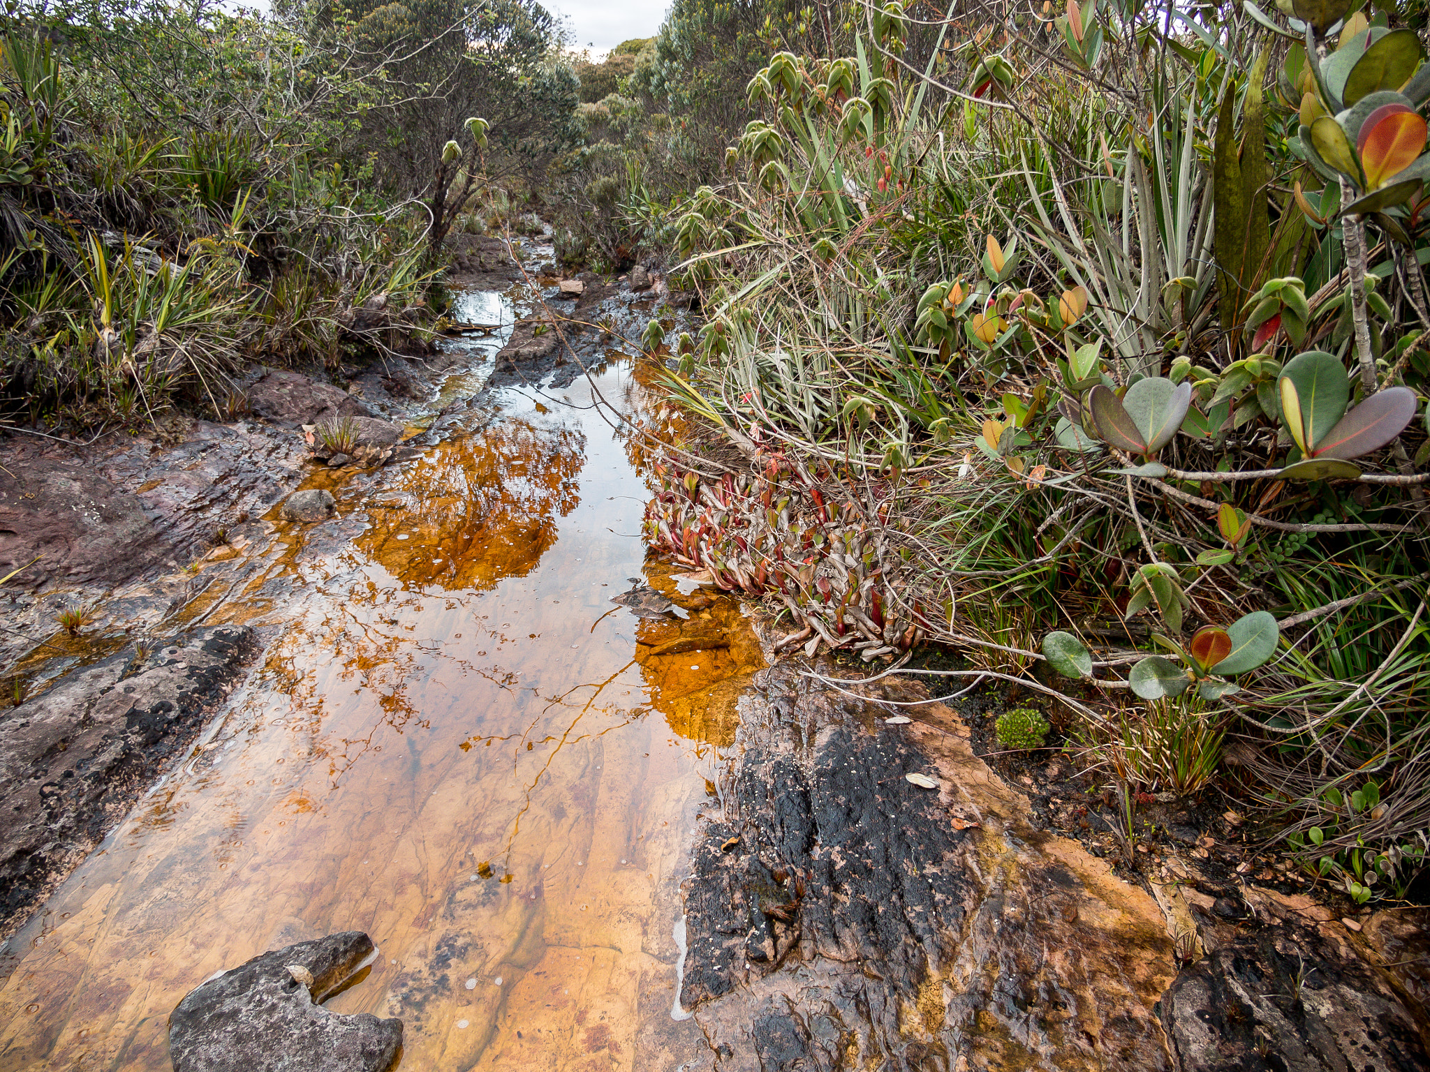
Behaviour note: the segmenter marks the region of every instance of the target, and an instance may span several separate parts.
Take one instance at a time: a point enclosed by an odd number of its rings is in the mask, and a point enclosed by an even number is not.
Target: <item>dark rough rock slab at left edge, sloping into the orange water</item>
[[[184,753],[253,650],[214,626],[70,673],[0,719],[0,933],[11,933]]]

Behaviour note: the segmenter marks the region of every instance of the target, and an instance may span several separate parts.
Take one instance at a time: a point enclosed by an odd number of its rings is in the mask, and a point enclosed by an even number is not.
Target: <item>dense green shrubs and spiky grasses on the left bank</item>
[[[114,426],[176,397],[229,413],[246,362],[412,344],[432,253],[483,176],[531,179],[565,146],[578,83],[559,44],[529,0],[11,11],[9,415]]]

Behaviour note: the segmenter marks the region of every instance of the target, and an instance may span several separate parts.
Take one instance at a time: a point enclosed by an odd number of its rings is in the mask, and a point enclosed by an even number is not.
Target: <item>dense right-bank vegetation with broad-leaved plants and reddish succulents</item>
[[[1356,7],[685,0],[563,167],[568,250],[699,292],[645,344],[748,459],[666,469],[659,546],[1364,900],[1430,826],[1430,66]]]

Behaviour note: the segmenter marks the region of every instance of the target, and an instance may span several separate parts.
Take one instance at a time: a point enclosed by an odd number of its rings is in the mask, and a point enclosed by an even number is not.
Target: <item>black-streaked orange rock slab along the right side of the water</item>
[[[1032,829],[952,712],[901,710],[792,665],[741,699],[686,885],[682,1002],[715,1066],[1171,1068],[1153,898]]]

